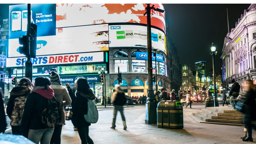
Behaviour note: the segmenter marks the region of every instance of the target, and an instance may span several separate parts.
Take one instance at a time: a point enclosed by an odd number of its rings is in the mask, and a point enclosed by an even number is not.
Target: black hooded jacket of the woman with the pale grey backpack
[[[76,91],[76,102],[72,109],[72,120],[77,122],[77,127],[89,127],[91,125],[84,118],[88,111],[88,99],[95,100],[92,89],[88,89],[87,94]]]

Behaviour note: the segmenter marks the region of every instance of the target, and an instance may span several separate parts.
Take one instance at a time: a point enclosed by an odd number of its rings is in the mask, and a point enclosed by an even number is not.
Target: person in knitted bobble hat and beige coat
[[[66,117],[64,107],[71,104],[72,101],[70,96],[68,95],[68,92],[65,86],[62,86],[61,84],[60,76],[55,71],[51,71],[50,74],[51,74],[50,80],[52,83],[50,87],[53,89],[54,97],[56,98],[57,102],[59,103],[59,107],[61,108],[60,119],[59,119],[60,122],[59,122],[59,125],[54,127],[54,132],[53,132],[53,136],[50,144],[60,144],[62,125],[65,125],[65,117]]]

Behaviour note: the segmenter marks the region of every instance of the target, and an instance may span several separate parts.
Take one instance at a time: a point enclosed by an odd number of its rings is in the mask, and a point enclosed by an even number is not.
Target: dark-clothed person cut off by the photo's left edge
[[[3,105],[3,93],[2,88],[0,87],[0,133],[4,133],[6,129],[6,119]]]

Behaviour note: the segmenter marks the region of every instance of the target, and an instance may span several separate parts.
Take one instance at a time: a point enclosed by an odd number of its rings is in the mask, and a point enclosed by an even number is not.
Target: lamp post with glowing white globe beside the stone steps
[[[216,47],[214,46],[214,44],[212,44],[212,47],[211,47],[211,50],[212,52],[210,53],[210,55],[213,56],[213,85],[214,85],[214,106],[215,107],[218,107],[219,106],[219,101],[218,101],[218,96],[217,96],[217,92],[216,92],[216,80],[215,80],[215,57],[214,56],[217,56],[218,52],[215,51],[216,50]]]

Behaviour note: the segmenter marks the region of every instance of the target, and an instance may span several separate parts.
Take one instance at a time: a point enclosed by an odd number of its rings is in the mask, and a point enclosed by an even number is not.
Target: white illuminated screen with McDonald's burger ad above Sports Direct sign
[[[37,56],[108,50],[108,24],[55,28],[55,33],[37,37]],[[9,39],[8,58],[24,57],[20,46],[19,38]]]

